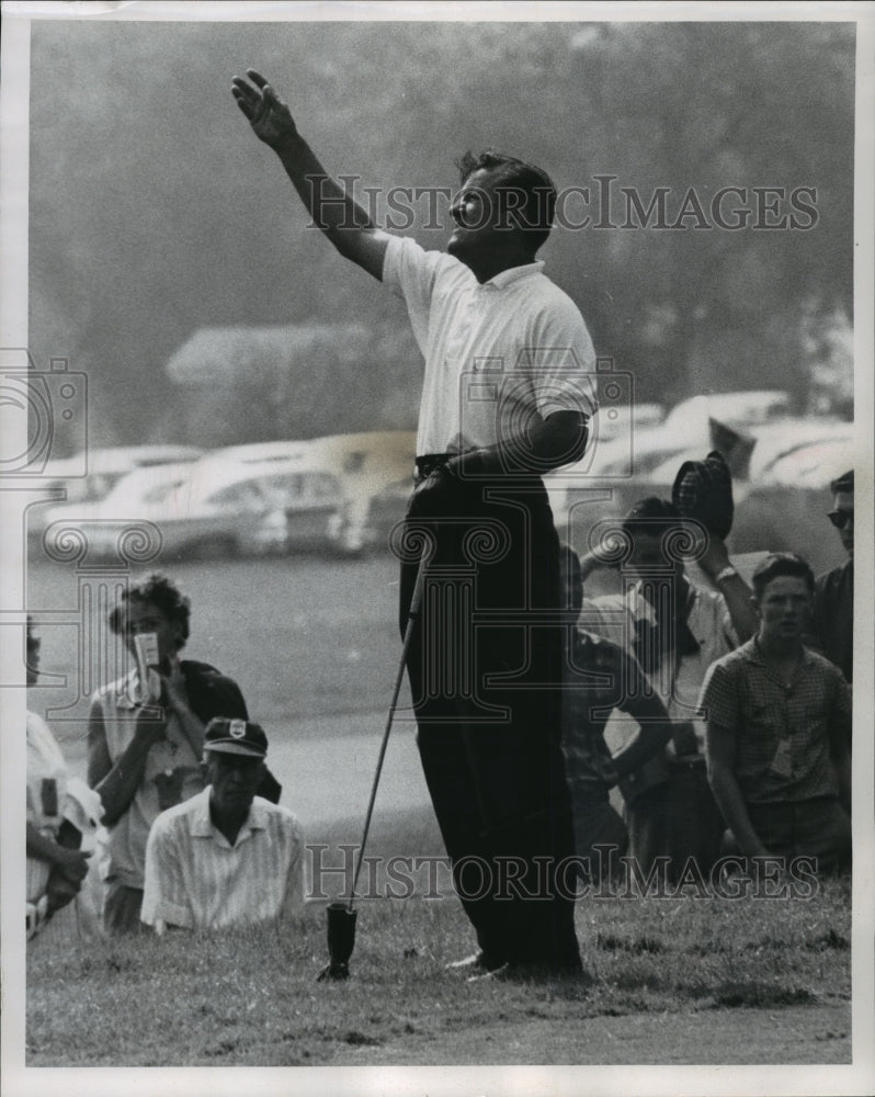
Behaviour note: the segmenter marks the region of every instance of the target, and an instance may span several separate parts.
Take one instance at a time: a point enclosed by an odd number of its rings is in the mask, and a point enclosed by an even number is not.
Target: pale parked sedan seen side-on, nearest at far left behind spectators
[[[117,552],[125,529],[150,522],[166,558],[325,548],[342,506],[337,478],[321,468],[205,460],[138,468],[100,502],[54,508],[44,540],[52,551],[64,529],[81,527],[89,556],[101,558]]]

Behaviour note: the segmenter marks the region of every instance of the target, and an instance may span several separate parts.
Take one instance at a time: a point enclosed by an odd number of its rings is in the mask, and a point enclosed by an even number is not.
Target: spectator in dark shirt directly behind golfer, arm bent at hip
[[[560,559],[569,610],[577,617],[583,600],[580,563],[567,547]],[[612,709],[639,724],[635,737],[613,758],[604,742]],[[661,765],[670,737],[666,708],[649,688],[637,660],[616,644],[570,624],[564,667],[562,753],[571,790],[577,855],[589,861],[588,879],[593,883],[603,879],[604,870],[615,874],[617,858],[628,845],[626,824],[612,806],[609,791],[652,759]],[[614,848],[600,852],[596,845]]]

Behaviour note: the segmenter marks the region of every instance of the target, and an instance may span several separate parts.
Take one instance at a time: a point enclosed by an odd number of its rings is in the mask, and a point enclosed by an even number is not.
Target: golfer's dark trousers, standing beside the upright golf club
[[[418,745],[456,891],[489,966],[580,965],[560,749],[558,539],[538,479],[458,485],[408,656]],[[418,562],[401,567],[401,627]]]

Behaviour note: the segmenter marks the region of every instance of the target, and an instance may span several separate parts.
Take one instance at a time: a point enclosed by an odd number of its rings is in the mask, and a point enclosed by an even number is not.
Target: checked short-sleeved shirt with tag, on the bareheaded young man
[[[804,647],[787,686],[754,637],[711,667],[700,704],[736,737],[735,773],[748,803],[838,794],[830,744],[850,738],[851,689],[821,655]]]

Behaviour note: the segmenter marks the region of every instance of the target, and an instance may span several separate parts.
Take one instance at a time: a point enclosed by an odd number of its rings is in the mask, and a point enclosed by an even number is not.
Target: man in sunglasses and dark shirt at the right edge
[[[819,576],[815,583],[811,646],[854,678],[854,473],[830,484],[832,510],[829,520],[839,531],[848,559]]]

